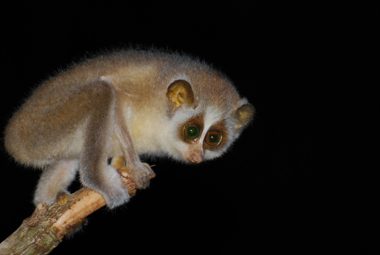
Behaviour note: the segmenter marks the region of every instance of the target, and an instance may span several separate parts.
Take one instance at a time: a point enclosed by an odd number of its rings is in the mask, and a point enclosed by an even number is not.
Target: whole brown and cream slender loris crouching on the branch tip
[[[9,120],[5,148],[17,162],[43,169],[35,204],[68,194],[79,171],[81,183],[113,208],[130,197],[115,169],[120,162],[145,188],[154,173],[139,154],[191,163],[220,157],[253,114],[206,63],[157,50],[117,51],[41,84]]]

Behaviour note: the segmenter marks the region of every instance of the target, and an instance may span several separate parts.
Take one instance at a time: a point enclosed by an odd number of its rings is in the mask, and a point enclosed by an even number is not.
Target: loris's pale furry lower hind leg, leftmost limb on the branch
[[[78,160],[60,160],[55,165],[47,166],[36,187],[33,200],[35,206],[40,201],[47,204],[55,203],[57,194],[60,195],[58,202],[64,204],[64,199],[70,195],[67,188],[75,179],[78,167]]]

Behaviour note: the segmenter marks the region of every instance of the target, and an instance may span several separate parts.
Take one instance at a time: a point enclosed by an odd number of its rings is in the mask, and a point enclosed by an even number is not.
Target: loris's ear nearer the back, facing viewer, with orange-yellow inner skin
[[[176,104],[177,109],[182,104],[191,105],[194,101],[191,85],[185,80],[176,80],[168,87],[166,96]]]

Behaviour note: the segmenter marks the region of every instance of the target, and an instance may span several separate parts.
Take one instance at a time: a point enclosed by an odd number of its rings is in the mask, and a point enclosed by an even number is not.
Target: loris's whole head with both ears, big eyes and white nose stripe
[[[166,96],[172,129],[169,133],[176,140],[168,154],[186,162],[200,163],[220,157],[255,112],[246,98],[239,97],[230,81],[216,73],[171,81]]]

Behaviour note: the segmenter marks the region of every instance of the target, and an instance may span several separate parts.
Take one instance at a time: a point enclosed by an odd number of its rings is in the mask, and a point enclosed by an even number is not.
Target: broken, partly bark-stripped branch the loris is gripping
[[[117,169],[131,196],[136,193],[136,185],[128,176],[127,169]],[[150,176],[152,179],[154,176]],[[106,205],[100,193],[89,188],[81,188],[67,198],[67,203],[40,202],[33,214],[21,226],[0,243],[3,255],[40,255],[50,253],[63,237],[80,228],[85,217]]]

